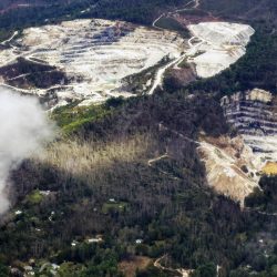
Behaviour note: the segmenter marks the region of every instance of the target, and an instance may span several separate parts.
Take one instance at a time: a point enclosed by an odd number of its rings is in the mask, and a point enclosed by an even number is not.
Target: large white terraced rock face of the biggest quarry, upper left
[[[66,104],[66,99],[95,103],[110,96],[130,96],[121,90],[123,78],[167,55],[176,59],[184,51],[183,39],[174,32],[100,19],[29,28],[17,43],[17,48],[0,51],[0,66],[18,57],[58,66],[70,79],[69,85],[54,88],[59,104]]]

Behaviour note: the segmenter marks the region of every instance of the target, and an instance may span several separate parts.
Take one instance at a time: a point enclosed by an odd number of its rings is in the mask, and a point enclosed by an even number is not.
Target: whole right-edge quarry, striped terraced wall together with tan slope
[[[220,100],[235,137],[205,137],[198,147],[207,182],[244,206],[263,174],[277,174],[276,96],[254,89]]]

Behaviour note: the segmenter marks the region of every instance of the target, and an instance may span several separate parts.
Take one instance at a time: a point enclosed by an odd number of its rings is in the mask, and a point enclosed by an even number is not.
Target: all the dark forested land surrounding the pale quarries
[[[4,39],[25,27],[92,17],[151,25],[187,2],[48,1],[43,10],[0,14],[0,30]],[[263,3],[201,1],[205,12],[256,30],[246,54],[216,76],[184,84],[168,70],[153,95],[88,106],[73,101],[50,113],[58,138],[10,176],[0,276],[166,277],[181,269],[189,277],[277,276],[276,177],[263,176],[263,191],[242,208],[208,186],[197,151],[201,137],[237,134],[224,117],[223,95],[254,88],[277,93],[276,7]],[[20,60],[1,73],[24,74],[29,65]],[[54,79],[42,80],[49,69]],[[28,81],[39,88],[63,79],[55,68],[33,70]]]

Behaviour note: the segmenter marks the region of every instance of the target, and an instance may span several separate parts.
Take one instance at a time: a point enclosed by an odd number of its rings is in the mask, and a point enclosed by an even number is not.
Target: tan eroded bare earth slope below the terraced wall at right
[[[260,163],[243,137],[205,137],[198,153],[206,167],[208,185],[244,206],[245,197],[258,187]]]

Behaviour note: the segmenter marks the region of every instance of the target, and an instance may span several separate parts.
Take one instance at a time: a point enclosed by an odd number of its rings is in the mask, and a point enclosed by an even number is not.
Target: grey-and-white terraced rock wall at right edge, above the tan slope
[[[277,162],[275,102],[270,92],[259,89],[222,99],[226,120],[238,130],[261,163]]]

